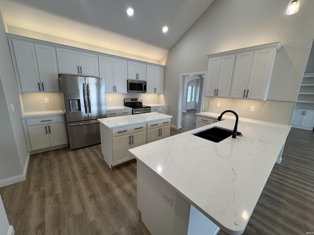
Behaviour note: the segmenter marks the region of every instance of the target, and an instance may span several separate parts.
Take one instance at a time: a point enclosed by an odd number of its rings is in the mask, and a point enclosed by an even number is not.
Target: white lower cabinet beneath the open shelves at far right
[[[314,111],[295,109],[291,118],[291,125],[296,128],[313,130]]]

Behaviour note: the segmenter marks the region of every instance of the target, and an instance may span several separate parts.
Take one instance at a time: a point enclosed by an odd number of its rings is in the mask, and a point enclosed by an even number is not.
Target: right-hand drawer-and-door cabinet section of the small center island
[[[147,142],[158,141],[170,136],[170,119],[147,124]]]

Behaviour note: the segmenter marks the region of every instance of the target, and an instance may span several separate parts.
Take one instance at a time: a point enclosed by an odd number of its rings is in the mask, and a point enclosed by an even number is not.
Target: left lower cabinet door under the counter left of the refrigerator
[[[51,146],[47,125],[28,126],[27,130],[33,151]]]

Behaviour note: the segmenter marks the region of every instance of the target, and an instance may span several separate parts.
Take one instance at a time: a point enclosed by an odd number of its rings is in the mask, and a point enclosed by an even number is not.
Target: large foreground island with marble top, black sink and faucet
[[[238,122],[243,137],[216,143],[193,135],[234,125],[225,119],[129,150],[137,159],[138,208],[152,235],[202,234],[192,209],[208,219],[206,234],[244,232],[291,126],[247,119]]]

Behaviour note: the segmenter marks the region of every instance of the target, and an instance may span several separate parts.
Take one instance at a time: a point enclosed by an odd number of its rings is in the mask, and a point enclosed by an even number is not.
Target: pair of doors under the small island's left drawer
[[[146,131],[112,138],[113,164],[117,165],[131,160],[131,153],[128,150],[145,143]]]

